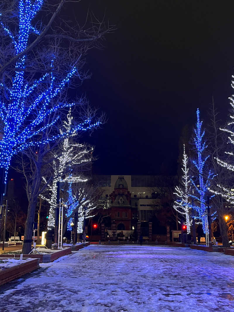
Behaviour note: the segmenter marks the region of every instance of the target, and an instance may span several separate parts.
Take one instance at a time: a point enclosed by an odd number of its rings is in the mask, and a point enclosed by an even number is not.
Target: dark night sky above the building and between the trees
[[[84,82],[90,103],[108,117],[89,142],[97,174],[177,171],[178,140],[197,107],[208,121],[214,96],[225,121],[234,69],[234,2],[89,0],[77,5],[117,29],[103,51],[92,50]]]

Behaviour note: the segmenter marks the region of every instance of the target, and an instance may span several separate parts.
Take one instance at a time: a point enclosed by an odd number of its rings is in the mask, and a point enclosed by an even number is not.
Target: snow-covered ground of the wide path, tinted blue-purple
[[[234,311],[234,257],[90,245],[1,294],[1,312]]]

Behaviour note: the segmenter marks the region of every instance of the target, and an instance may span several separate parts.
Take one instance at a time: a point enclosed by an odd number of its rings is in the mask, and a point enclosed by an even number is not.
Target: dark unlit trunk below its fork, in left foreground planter
[[[32,249],[32,223],[34,222],[35,211],[36,211],[36,200],[31,199],[28,203],[28,214],[25,223],[24,241],[23,241],[23,254],[29,254]]]

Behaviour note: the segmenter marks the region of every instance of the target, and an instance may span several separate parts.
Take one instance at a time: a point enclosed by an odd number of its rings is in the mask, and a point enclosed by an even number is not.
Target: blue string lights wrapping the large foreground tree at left
[[[15,55],[22,53],[27,48],[30,33],[40,34],[32,26],[31,22],[42,4],[43,0],[35,0],[34,2],[31,0],[19,0],[19,27],[17,32],[15,30],[11,32],[4,25],[0,15],[0,26],[12,40]],[[14,34],[15,32],[16,34]],[[51,72],[44,74],[30,84],[24,75],[26,59],[27,56],[23,55],[16,62],[16,71],[15,76],[12,78],[11,88],[7,89],[4,83],[0,84],[9,93],[9,98],[6,99],[6,102],[0,98],[0,117],[4,123],[3,137],[0,141],[0,167],[5,170],[5,183],[7,182],[7,173],[14,154],[22,152],[30,146],[48,144],[59,138],[73,135],[77,131],[92,129],[100,124],[99,120],[92,122],[91,119],[87,118],[84,122],[71,127],[70,130],[61,131],[59,134],[49,135],[46,139],[38,140],[38,134],[42,134],[59,120],[61,109],[77,104],[57,103],[57,101],[54,101],[56,96],[68,85],[71,78],[77,74],[77,68],[72,68],[63,79],[59,80],[54,76],[55,56],[51,56]],[[38,86],[45,81],[49,86],[45,87],[44,91],[41,91],[41,88],[38,88]],[[55,118],[45,125],[44,120],[51,113],[55,115]]]

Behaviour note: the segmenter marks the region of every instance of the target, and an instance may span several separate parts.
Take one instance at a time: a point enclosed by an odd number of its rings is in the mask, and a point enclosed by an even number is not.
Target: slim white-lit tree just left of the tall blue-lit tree
[[[192,221],[190,220],[190,204],[189,204],[189,190],[190,190],[190,176],[189,176],[189,168],[188,168],[188,156],[185,153],[185,145],[183,151],[183,161],[182,161],[182,181],[179,186],[175,187],[174,194],[176,195],[177,199],[174,202],[173,208],[185,216],[186,225],[187,225],[187,232],[190,233],[190,227],[192,225]]]

